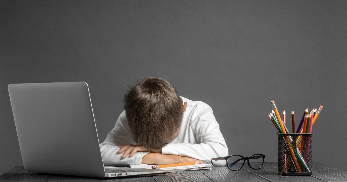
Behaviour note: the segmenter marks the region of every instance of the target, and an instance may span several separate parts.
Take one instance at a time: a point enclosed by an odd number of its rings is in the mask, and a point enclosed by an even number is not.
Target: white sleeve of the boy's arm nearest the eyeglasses
[[[200,144],[168,144],[162,148],[162,153],[188,156],[206,161],[210,161],[214,157],[228,156],[227,144],[210,106],[201,103],[195,108],[192,114],[191,127]],[[225,161],[218,162],[217,165],[225,165]]]

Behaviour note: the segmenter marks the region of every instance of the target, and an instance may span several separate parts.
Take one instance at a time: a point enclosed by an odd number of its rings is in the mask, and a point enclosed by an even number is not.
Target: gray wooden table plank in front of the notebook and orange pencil
[[[212,181],[208,176],[199,170],[194,171],[177,171],[173,173],[158,174],[153,176],[158,182],[175,182],[175,181],[194,181],[208,182]]]

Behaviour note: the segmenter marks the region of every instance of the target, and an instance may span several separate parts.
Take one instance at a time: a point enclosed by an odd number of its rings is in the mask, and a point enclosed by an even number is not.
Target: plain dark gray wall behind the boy
[[[1,1],[0,173],[22,165],[9,83],[86,81],[102,141],[127,84],[147,76],[208,103],[229,154],[266,161],[277,161],[270,101],[289,121],[291,108],[299,120],[322,104],[313,161],[347,170],[346,9],[347,1]]]

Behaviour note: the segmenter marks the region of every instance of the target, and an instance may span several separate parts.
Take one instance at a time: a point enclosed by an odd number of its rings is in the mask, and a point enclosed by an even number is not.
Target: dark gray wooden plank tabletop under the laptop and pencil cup
[[[50,175],[26,172],[23,166],[15,166],[0,176],[0,181],[347,181],[347,172],[335,167],[313,163],[312,176],[281,176],[277,174],[277,163],[266,162],[259,170],[244,166],[238,171],[230,171],[226,166],[215,166],[213,170],[178,171],[174,173],[142,175],[120,179],[94,179],[78,176]]]

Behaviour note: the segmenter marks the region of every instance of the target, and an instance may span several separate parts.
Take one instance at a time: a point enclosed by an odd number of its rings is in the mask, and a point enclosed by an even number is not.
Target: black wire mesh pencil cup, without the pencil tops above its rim
[[[278,174],[311,175],[312,133],[277,133]]]

